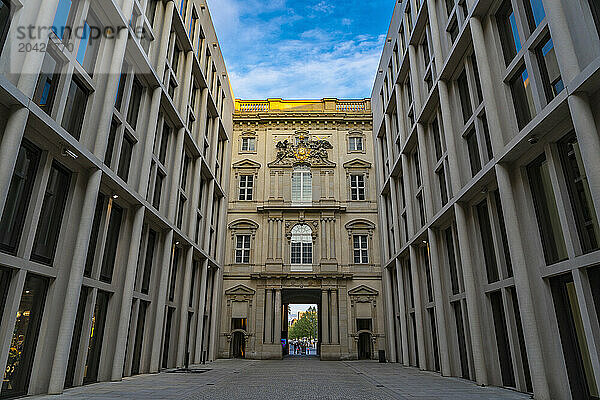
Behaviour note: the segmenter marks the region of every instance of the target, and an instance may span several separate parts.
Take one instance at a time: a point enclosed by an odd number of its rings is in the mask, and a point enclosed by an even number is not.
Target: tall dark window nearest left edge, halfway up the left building
[[[16,254],[40,159],[40,151],[23,140],[0,220],[0,250]]]

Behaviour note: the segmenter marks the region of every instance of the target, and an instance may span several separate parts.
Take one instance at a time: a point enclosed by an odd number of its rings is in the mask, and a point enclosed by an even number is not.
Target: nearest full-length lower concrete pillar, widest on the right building
[[[510,172],[503,164],[496,164],[496,177],[498,191],[502,201],[502,211],[506,222],[506,233],[510,247],[513,273],[515,275],[515,288],[519,300],[523,336],[527,348],[531,381],[536,398],[550,399],[550,388],[545,374],[544,351],[538,332],[538,318],[535,312],[534,294],[531,288],[531,278],[527,270],[523,236],[519,226],[517,204],[510,180]],[[537,279],[537,276],[535,277]],[[542,318],[544,318],[542,316]]]

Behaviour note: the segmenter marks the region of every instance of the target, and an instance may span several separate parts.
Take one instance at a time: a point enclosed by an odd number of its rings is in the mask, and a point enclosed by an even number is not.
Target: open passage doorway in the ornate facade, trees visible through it
[[[321,345],[321,291],[315,289],[282,290],[281,325],[283,356],[319,356]],[[302,305],[302,307],[297,307]],[[290,316],[290,311],[295,310]]]

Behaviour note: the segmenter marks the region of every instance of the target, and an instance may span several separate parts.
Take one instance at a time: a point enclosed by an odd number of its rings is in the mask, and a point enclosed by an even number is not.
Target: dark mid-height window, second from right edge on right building
[[[527,166],[527,175],[546,264],[565,260],[567,248],[545,154]]]

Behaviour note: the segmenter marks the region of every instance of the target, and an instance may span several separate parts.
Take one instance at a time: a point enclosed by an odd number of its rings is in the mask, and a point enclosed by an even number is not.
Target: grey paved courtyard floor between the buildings
[[[527,395],[478,387],[454,378],[377,362],[325,362],[317,358],[283,361],[219,360],[205,373],[160,373],[97,383],[65,391],[57,399],[407,399],[505,400]]]

